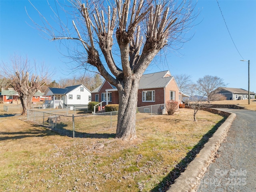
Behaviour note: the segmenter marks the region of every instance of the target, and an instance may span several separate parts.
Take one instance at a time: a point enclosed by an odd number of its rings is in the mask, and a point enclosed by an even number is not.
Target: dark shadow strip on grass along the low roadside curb
[[[172,171],[165,177],[163,180],[155,186],[150,192],[166,192],[171,184],[174,184],[174,181],[176,178],[180,176],[182,172],[186,170],[186,167],[194,158],[196,155],[200,152],[200,150],[204,147],[204,144],[208,142],[208,140],[212,137],[212,135],[216,132],[216,130],[220,127],[220,125],[225,122],[227,117],[224,117],[222,120],[220,120],[211,130],[209,130],[202,139],[190,150],[186,156],[172,169]]]

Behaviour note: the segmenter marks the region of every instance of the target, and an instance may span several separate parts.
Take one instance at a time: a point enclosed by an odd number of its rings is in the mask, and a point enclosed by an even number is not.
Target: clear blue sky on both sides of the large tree
[[[44,14],[50,13],[45,0],[32,2],[45,11]],[[204,75],[212,75],[222,78],[227,87],[248,90],[248,62],[240,60],[250,60],[250,90],[256,92],[256,0],[218,2],[242,57],[230,38],[217,1],[199,0],[196,25],[186,34],[187,38],[193,36],[192,39],[177,52],[166,49],[146,73],[170,70],[172,75],[188,74],[195,82]],[[28,1],[0,0],[0,61],[9,62],[15,53],[56,68],[53,80],[74,76],[68,76],[66,63],[70,60],[62,55],[66,54],[66,48],[59,42],[42,38],[40,32],[30,26],[32,22],[25,6],[34,17],[35,12]]]

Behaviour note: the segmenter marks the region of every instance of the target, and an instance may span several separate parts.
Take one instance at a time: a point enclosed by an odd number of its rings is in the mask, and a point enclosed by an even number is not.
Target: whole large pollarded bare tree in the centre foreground
[[[69,49],[72,58],[78,61],[77,67],[85,70],[96,68],[118,90],[116,138],[136,138],[140,78],[162,48],[184,42],[184,32],[192,27],[192,21],[196,18],[193,11],[195,4],[192,0],[181,1],[180,4],[169,0],[69,2],[75,8],[72,24],[76,34],[70,32],[71,28],[65,26],[66,22],[59,19],[57,11],[54,14],[60,30],[56,31],[55,27],[48,25],[47,20],[37,26],[52,40],[78,42],[80,47],[75,51]],[[40,16],[45,19],[42,14]]]

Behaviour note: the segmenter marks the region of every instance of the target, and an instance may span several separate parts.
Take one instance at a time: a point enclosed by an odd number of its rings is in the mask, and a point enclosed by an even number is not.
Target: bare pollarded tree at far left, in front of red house
[[[46,83],[50,77],[48,71],[42,64],[30,64],[28,58],[14,55],[11,63],[2,62],[2,71],[10,79],[10,85],[20,97],[22,104],[22,115],[32,107],[32,97]]]

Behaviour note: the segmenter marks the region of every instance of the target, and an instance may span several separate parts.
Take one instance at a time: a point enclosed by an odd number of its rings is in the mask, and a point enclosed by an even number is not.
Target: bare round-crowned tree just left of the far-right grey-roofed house
[[[222,78],[210,75],[199,78],[197,83],[201,92],[200,95],[206,96],[208,103],[218,100],[218,95],[216,94],[219,92],[221,87],[226,86]]]

